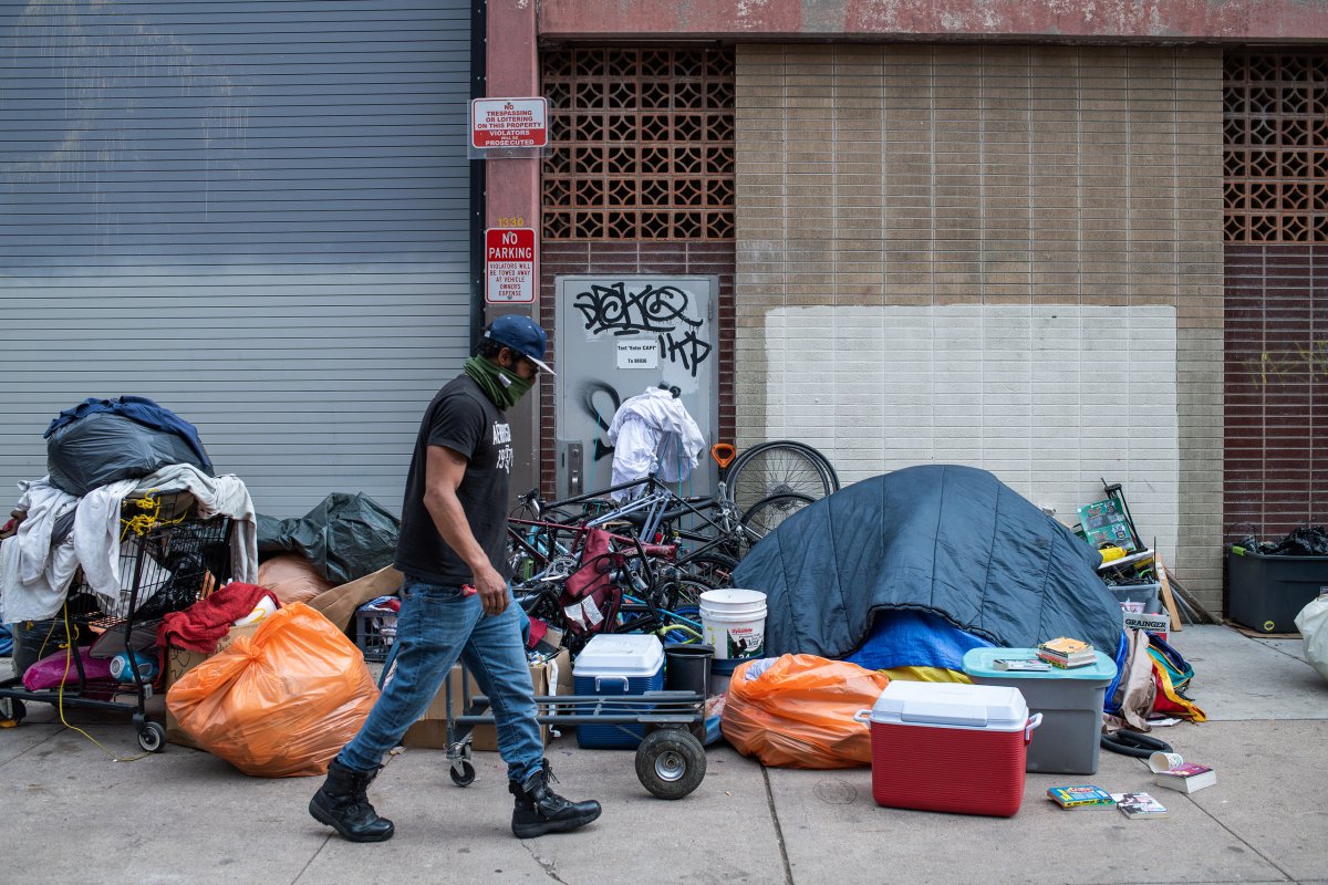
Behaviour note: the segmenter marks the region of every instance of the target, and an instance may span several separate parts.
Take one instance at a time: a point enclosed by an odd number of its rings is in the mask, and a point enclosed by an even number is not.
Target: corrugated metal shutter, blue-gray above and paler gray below
[[[0,516],[121,394],[259,512],[397,510],[469,346],[470,49],[463,0],[0,3]]]

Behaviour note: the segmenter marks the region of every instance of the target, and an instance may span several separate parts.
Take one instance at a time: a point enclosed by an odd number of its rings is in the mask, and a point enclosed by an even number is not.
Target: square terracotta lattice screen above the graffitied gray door
[[[544,240],[732,240],[733,54],[543,56]]]

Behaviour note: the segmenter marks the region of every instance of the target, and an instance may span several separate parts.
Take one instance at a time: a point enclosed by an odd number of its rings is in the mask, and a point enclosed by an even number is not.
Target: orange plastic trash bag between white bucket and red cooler
[[[874,706],[887,685],[884,674],[813,654],[741,663],[729,681],[720,730],[738,752],[765,766],[870,766],[871,732],[853,715]]]

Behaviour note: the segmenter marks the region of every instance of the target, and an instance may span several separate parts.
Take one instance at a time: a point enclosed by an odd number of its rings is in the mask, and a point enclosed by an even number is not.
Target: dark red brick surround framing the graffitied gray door
[[[718,414],[720,437],[733,438],[733,243],[724,240],[544,240],[540,247],[540,324],[552,329],[550,352],[556,353],[555,280],[567,275],[587,273],[669,273],[717,276],[720,301],[716,316],[718,334]],[[556,370],[556,366],[554,366]],[[544,495],[555,494],[558,452],[555,442],[554,385],[540,385],[539,487]],[[718,441],[714,441],[718,442]]]

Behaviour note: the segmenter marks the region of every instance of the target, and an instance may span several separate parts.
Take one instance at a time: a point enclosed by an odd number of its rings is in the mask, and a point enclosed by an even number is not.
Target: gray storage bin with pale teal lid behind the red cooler
[[[973,683],[1019,689],[1029,711],[1042,714],[1042,724],[1028,744],[1028,771],[1097,774],[1102,706],[1106,686],[1116,678],[1116,662],[1101,651],[1094,654],[1093,665],[1045,673],[992,666],[999,658],[1036,658],[1037,649],[969,649],[964,654],[964,673]]]

